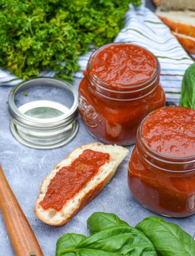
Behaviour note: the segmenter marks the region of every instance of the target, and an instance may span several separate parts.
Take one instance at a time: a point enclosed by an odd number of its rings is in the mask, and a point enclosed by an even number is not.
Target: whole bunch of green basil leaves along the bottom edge
[[[56,256],[194,256],[195,241],[173,223],[147,217],[135,228],[115,214],[94,212],[87,220],[91,236],[66,233]]]

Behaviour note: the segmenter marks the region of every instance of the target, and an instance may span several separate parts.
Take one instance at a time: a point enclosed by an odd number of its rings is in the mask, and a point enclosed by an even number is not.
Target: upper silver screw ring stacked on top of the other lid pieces
[[[58,88],[70,91],[73,94],[74,101],[68,113],[62,114],[54,118],[48,118],[45,120],[34,118],[21,113],[14,102],[14,96],[25,89],[37,87],[37,86],[58,87]],[[46,128],[48,130],[59,129],[60,127],[67,126],[73,123],[77,119],[78,92],[71,84],[65,81],[62,81],[60,79],[44,77],[44,78],[35,78],[35,79],[27,80],[19,83],[17,86],[15,86],[11,90],[8,98],[8,114],[10,116],[10,119],[13,121],[13,123],[19,124],[26,128],[30,128],[30,129],[38,128],[40,130],[44,130]]]

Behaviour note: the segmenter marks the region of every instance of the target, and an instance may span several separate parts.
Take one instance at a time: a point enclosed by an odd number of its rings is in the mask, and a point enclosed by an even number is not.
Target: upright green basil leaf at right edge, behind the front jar
[[[183,76],[179,106],[195,109],[195,63],[187,68]]]

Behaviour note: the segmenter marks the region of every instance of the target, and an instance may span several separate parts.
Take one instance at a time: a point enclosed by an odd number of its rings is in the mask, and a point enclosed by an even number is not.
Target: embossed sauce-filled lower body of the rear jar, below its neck
[[[83,122],[92,135],[105,143],[135,144],[139,124],[148,113],[164,105],[165,93],[160,85],[136,101],[102,100],[89,90],[86,77],[79,85],[79,112]]]

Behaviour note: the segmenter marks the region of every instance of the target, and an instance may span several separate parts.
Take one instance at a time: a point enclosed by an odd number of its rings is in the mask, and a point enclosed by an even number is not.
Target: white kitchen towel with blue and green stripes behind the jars
[[[117,35],[114,42],[132,42],[153,52],[160,62],[160,83],[165,90],[166,99],[168,102],[178,105],[183,74],[194,61],[181,47],[177,39],[170,34],[170,29],[146,8],[144,3],[139,7],[129,5],[124,24],[124,28]],[[75,72],[75,77],[83,77],[83,71],[86,69],[93,50],[91,49],[87,54],[80,56],[81,71]],[[54,74],[53,71],[45,71],[40,76],[53,77]],[[1,84],[6,82],[6,85],[14,86],[22,81],[21,79],[13,79],[15,77],[10,75],[8,71],[0,70]]]

